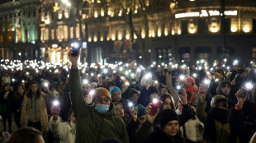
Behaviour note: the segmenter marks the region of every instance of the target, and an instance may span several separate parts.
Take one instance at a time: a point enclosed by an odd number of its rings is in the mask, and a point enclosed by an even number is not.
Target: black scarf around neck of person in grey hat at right
[[[215,120],[225,124],[228,122],[228,114],[229,112],[225,109],[211,107],[207,114],[204,137],[206,137],[209,141],[216,141]]]

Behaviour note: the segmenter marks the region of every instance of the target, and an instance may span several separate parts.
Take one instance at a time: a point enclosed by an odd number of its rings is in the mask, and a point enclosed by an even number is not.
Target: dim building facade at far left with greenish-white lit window
[[[39,0],[0,3],[0,58],[40,59],[37,14]]]

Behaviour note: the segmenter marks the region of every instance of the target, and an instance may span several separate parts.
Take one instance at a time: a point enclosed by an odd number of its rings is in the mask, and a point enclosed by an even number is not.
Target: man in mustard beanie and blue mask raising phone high
[[[83,100],[80,75],[78,70],[78,56],[71,56],[72,67],[69,73],[69,90],[73,112],[77,118],[76,142],[101,142],[108,138],[116,138],[124,143],[129,142],[126,125],[116,115],[115,105],[111,103],[111,95],[105,88],[94,90],[92,106]]]

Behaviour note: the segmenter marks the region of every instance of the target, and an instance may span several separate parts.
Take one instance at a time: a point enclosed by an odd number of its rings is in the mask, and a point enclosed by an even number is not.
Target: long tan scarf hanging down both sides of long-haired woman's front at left
[[[29,118],[29,99],[26,95],[24,96],[23,100],[23,106],[21,109],[21,126],[27,127],[28,118]],[[46,110],[46,104],[45,104],[45,94],[40,93],[39,97],[39,110],[40,110],[40,124],[41,124],[41,131],[48,131],[49,125],[48,125],[48,115]]]

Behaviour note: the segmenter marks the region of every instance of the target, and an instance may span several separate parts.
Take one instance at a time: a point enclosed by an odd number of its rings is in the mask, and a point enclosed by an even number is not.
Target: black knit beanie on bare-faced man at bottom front
[[[159,122],[160,122],[160,126],[162,129],[168,122],[173,121],[173,120],[178,121],[178,115],[173,109],[165,108],[164,110],[160,111]]]

